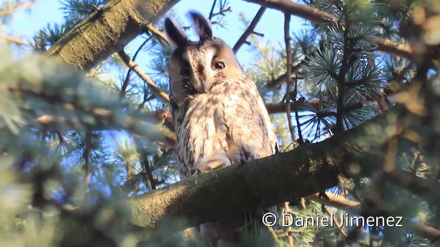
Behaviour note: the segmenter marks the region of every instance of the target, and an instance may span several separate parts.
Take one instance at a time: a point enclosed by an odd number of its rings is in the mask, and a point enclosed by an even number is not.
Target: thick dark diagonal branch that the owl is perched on
[[[398,134],[397,126],[406,122],[405,115],[403,107],[395,106],[320,143],[300,145],[290,152],[200,174],[137,196],[132,199],[133,217],[138,224],[153,228],[170,217],[185,218],[180,224],[173,223],[181,229],[225,219],[230,212],[298,200],[338,185],[341,171],[350,176],[369,174],[384,161],[383,152],[376,150]]]

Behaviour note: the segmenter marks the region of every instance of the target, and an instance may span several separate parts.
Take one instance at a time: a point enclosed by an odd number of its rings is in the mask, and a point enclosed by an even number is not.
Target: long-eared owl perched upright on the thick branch
[[[251,161],[276,152],[276,135],[256,84],[232,49],[212,36],[211,22],[189,13],[198,41],[171,19],[170,111],[177,136],[179,174]]]

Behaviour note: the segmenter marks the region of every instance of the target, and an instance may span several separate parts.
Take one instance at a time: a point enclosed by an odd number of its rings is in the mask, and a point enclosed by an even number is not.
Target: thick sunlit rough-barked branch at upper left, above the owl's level
[[[111,0],[58,40],[47,55],[89,71],[145,32],[178,0]]]

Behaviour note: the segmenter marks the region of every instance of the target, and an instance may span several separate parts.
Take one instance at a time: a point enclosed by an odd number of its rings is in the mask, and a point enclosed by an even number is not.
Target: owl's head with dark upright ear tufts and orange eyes
[[[210,93],[213,86],[243,76],[232,49],[212,36],[211,22],[197,12],[189,16],[199,40],[189,40],[184,29],[165,19],[168,41],[176,47],[170,58],[170,92],[176,103]]]

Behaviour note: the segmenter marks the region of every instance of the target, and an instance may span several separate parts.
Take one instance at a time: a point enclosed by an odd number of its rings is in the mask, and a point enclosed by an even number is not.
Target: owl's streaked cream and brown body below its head
[[[181,178],[203,163],[227,166],[275,152],[274,128],[250,78],[217,84],[171,110]]]

